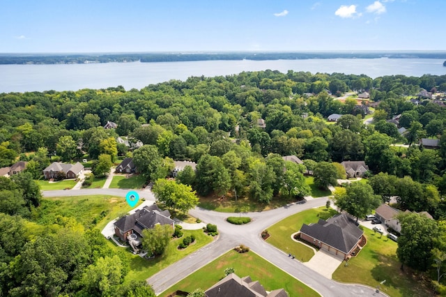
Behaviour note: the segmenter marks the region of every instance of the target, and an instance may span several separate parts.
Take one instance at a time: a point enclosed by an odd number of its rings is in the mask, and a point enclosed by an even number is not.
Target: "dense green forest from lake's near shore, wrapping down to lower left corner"
[[[364,91],[369,98],[359,100]],[[333,164],[364,160],[371,188],[383,201],[398,196],[401,210],[429,211],[443,221],[445,91],[446,75],[371,79],[265,70],[171,80],[141,90],[1,93],[0,167],[17,160],[28,165],[24,174],[0,178],[0,296],[150,291],[140,283],[121,284],[128,264],[107,250],[98,230],[63,217],[36,222],[40,197],[33,178],[40,178],[50,160],[133,156],[152,180],[167,175],[164,165],[172,159],[192,160],[197,172],[185,170],[178,179],[200,195],[244,195],[264,204],[307,195],[307,171],[321,178],[334,172],[320,181],[324,187],[339,176]],[[351,96],[341,97],[346,92]],[[366,106],[375,108],[369,125],[363,121]],[[329,123],[331,114],[341,117]],[[116,130],[102,128],[109,121]],[[116,143],[118,136],[144,146],[131,151]],[[439,139],[439,148],[419,146],[425,137]],[[304,165],[284,162],[282,155],[296,155]],[[17,235],[11,240],[10,234]],[[443,245],[436,248],[446,252]],[[104,285],[105,279],[113,282]]]

